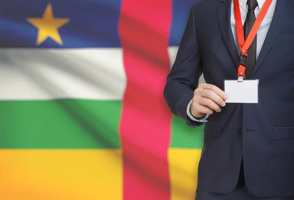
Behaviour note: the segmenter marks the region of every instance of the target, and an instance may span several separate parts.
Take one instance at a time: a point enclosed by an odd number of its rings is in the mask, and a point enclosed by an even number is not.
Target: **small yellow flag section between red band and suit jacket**
[[[194,200],[201,149],[169,149],[171,200]]]

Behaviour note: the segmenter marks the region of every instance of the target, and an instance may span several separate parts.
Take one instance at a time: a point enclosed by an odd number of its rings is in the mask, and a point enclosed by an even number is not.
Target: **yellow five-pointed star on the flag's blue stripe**
[[[51,3],[47,4],[43,18],[27,18],[27,21],[38,29],[36,45],[51,38],[59,45],[63,45],[58,29],[70,22],[69,18],[54,18]]]

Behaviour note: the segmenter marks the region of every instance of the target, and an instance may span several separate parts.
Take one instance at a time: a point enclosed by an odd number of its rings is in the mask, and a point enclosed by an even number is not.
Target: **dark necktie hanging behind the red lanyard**
[[[245,40],[255,22],[255,14],[254,10],[258,6],[257,0],[247,0],[248,3],[248,12],[246,16],[246,20],[244,23],[244,35]],[[249,49],[247,50],[247,59],[245,63],[245,76],[249,78],[251,76],[251,73],[253,71],[254,65],[256,62],[256,36],[250,45]]]

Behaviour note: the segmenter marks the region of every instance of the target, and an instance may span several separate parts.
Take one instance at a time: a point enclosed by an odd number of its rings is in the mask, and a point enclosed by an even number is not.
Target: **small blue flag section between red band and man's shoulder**
[[[199,0],[172,0],[170,46],[178,46],[184,33],[191,6]]]

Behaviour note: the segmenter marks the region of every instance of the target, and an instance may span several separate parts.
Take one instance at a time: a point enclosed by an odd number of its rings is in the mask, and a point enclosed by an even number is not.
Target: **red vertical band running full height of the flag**
[[[119,24],[127,87],[123,100],[123,199],[170,200],[172,115],[163,99],[170,71],[171,0],[123,0]]]

